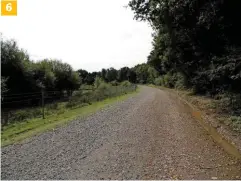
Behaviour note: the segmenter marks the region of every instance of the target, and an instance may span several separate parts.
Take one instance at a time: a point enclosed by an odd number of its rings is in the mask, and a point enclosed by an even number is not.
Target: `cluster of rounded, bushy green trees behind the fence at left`
[[[22,94],[45,90],[73,91],[81,84],[79,75],[67,63],[44,59],[30,61],[26,51],[14,40],[1,42],[2,85],[9,94]],[[19,86],[21,85],[21,86]]]

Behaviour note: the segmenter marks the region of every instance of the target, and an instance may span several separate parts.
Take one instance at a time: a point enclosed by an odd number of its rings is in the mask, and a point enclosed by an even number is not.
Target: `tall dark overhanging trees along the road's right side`
[[[129,7],[137,20],[153,27],[148,64],[164,76],[166,86],[240,94],[241,1],[131,0]]]

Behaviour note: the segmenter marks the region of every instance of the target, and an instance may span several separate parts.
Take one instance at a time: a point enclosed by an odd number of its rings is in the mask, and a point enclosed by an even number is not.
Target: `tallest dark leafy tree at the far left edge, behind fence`
[[[14,40],[1,41],[1,75],[8,77],[8,93],[24,93],[36,90],[32,77],[32,63],[26,51],[19,49]]]

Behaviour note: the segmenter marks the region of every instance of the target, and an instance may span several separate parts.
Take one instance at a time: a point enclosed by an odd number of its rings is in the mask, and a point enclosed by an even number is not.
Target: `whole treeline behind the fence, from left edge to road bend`
[[[58,96],[55,97],[58,99],[71,96],[82,84],[92,85],[96,77],[112,85],[126,80],[131,83],[147,83],[158,77],[158,72],[147,64],[119,70],[109,68],[100,72],[88,72],[83,69],[73,70],[71,65],[60,60],[44,59],[34,62],[14,40],[1,41],[1,73],[2,108],[6,101],[11,103],[11,100],[17,100],[21,104],[21,100],[26,100],[29,96],[36,96],[39,101],[41,91],[51,95],[57,93]]]

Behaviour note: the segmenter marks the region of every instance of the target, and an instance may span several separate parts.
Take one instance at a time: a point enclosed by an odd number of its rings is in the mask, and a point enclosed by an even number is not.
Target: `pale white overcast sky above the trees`
[[[150,26],[133,20],[129,0],[17,0],[18,16],[0,17],[3,37],[31,59],[56,58],[99,71],[146,62]]]

